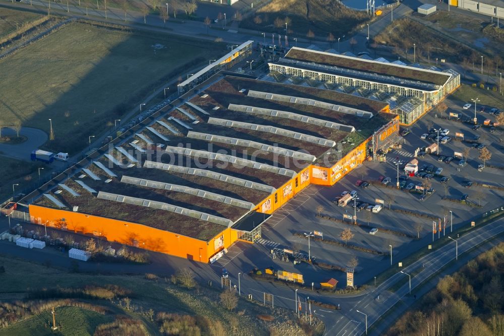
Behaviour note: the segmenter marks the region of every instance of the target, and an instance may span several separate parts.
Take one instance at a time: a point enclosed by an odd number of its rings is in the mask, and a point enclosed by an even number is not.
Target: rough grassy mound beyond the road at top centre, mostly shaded
[[[311,30],[319,39],[326,39],[329,32],[337,39],[369,20],[365,12],[333,0],[272,0],[256,15],[244,18],[241,26],[285,35],[285,18],[290,21],[288,35],[305,36]]]

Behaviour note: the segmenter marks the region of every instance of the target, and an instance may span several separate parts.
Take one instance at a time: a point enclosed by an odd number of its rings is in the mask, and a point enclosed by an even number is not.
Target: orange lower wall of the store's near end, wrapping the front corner
[[[49,227],[66,227],[69,231],[202,262],[208,262],[212,255],[228,248],[238,238],[235,230],[223,228],[220,234],[205,242],[138,223],[37,205],[30,205],[30,217],[35,224],[43,225],[48,220]]]

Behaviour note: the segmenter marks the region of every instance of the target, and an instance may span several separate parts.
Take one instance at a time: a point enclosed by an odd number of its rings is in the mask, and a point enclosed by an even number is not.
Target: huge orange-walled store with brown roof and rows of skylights
[[[388,104],[219,75],[53,181],[29,205],[40,225],[201,262],[310,184],[332,186],[390,146]],[[28,195],[26,199],[33,199]]]

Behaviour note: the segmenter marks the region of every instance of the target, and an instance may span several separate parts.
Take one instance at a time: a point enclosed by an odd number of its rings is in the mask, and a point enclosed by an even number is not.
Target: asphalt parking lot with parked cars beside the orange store
[[[474,105],[472,109],[463,109],[460,102],[447,100],[446,103],[450,107],[445,116],[448,117],[450,111],[453,113],[461,113],[465,117],[474,118]],[[495,121],[495,116],[488,114],[490,107],[485,106],[486,112],[480,113],[480,106],[477,107],[478,124],[483,124],[485,119]],[[437,116],[440,117],[440,116]],[[406,255],[421,249],[426,248],[429,242],[432,241],[432,219],[423,218],[399,213],[388,209],[388,200],[392,199],[392,209],[412,210],[418,213],[427,214],[430,216],[443,218],[446,217],[445,232],[436,234],[443,236],[450,234],[450,210],[452,211],[453,228],[456,229],[462,222],[480,217],[482,213],[489,210],[501,207],[503,205],[504,190],[494,190],[477,185],[470,188],[464,187],[465,181],[471,181],[479,184],[489,184],[504,187],[504,179],[501,178],[502,171],[490,167],[485,167],[481,172],[478,171],[478,165],[483,162],[478,158],[479,150],[472,148],[472,143],[455,140],[455,133],[464,133],[464,138],[472,139],[475,135],[479,135],[478,143],[484,144],[492,153],[492,157],[486,163],[495,166],[504,166],[504,151],[499,138],[504,138],[501,129],[497,128],[494,133],[489,132],[489,127],[481,127],[478,130],[473,130],[473,124],[463,123],[455,119],[436,118],[435,110],[430,111],[415,125],[410,127],[411,133],[403,137],[401,148],[394,148],[386,154],[387,162],[368,161],[357,167],[351,174],[346,176],[341,182],[331,188],[311,186],[304,194],[294,198],[280,211],[277,211],[267,224],[264,226],[263,241],[261,242],[266,251],[273,246],[291,248],[292,246],[300,246],[300,250],[308,252],[307,240],[301,237],[293,236],[294,233],[309,233],[312,231],[320,231],[325,238],[339,240],[340,233],[347,228],[352,230],[355,235],[349,244],[362,246],[365,248],[388,252],[390,245],[393,246],[393,262],[398,262]],[[410,192],[406,190],[398,190],[396,188],[384,188],[383,186],[369,185],[367,188],[359,188],[355,186],[357,180],[375,181],[380,177],[390,177],[390,185],[396,185],[397,166],[395,161],[402,161],[399,166],[399,174],[404,172],[404,163],[409,162],[414,158],[415,149],[428,146],[433,143],[431,140],[421,139],[421,135],[428,133],[429,128],[449,129],[449,136],[452,140],[446,144],[439,143],[439,156],[453,156],[454,152],[464,153],[466,148],[470,148],[467,158],[467,164],[463,167],[459,166],[459,159],[454,159],[450,163],[438,161],[436,153],[426,154],[423,157],[418,157],[420,167],[423,164],[433,165],[436,169],[443,168],[442,176],[449,177],[446,190],[448,198],[460,199],[462,195],[468,195],[468,202],[481,205],[481,207],[470,206],[463,203],[451,202],[445,200],[445,187],[440,182],[440,176],[434,176],[429,181],[431,188],[435,191],[428,195],[424,200],[420,200],[421,193]],[[436,134],[437,135],[437,134]],[[422,184],[425,180],[419,177],[409,177],[406,185],[409,183]],[[369,234],[369,228],[349,226],[345,223],[319,218],[317,214],[317,206],[322,205],[324,210],[322,215],[342,219],[344,214],[353,215],[353,201],[347,206],[340,207],[332,201],[335,197],[340,196],[343,191],[356,190],[358,192],[358,202],[367,202],[371,205],[375,204],[375,199],[385,201],[384,209],[379,213],[361,210],[356,212],[357,221],[360,224],[376,228],[395,230],[405,233],[409,236],[417,235],[417,223],[421,225],[421,239],[411,239],[392,235],[384,232],[379,232],[376,235]],[[296,203],[297,202],[297,203]],[[350,220],[348,220],[349,222]],[[444,223],[442,223],[444,227]],[[277,245],[278,244],[278,245]],[[261,245],[261,244],[259,244]],[[310,242],[311,255],[316,256],[319,260],[332,264],[346,266],[348,261],[356,256],[359,259],[359,265],[356,267],[357,284],[364,283],[372,279],[374,274],[386,269],[390,266],[389,256],[377,256],[366,252],[356,251],[353,249],[329,245],[322,242]],[[265,261],[266,262],[266,261]],[[291,271],[298,270],[305,273],[307,269],[302,266],[287,266],[284,262],[270,259],[269,263],[276,263],[278,267],[284,269],[292,268]],[[291,263],[292,264],[292,263]],[[311,266],[310,266],[311,268]],[[364,272],[365,270],[365,272]],[[310,272],[306,279],[311,281],[312,278],[317,279],[328,275],[327,272],[313,273]],[[345,274],[343,272],[333,271],[330,274],[332,277],[340,281],[344,287]]]

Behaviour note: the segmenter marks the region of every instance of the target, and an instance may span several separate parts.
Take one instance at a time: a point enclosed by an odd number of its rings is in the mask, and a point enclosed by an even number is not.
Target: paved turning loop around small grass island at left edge
[[[8,145],[0,144],[0,152],[13,158],[30,161],[32,150],[37,149],[47,141],[47,133],[37,128],[21,127],[19,134],[28,139],[20,144]],[[2,129],[2,136],[16,136],[16,131],[11,128]]]

